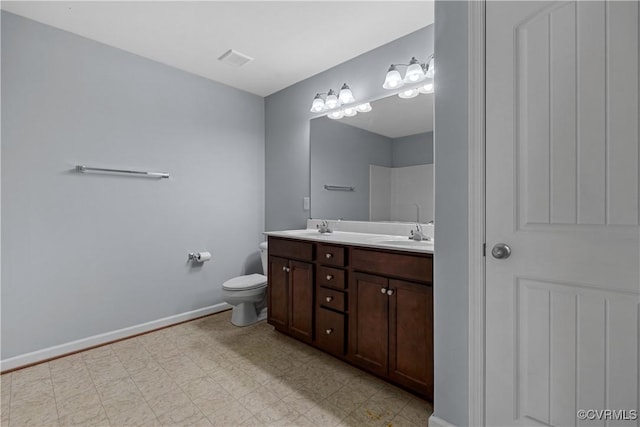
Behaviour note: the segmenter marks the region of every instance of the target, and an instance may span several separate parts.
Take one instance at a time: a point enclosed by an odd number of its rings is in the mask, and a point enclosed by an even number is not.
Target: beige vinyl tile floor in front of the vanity
[[[231,312],[4,374],[2,426],[426,426],[431,405]]]

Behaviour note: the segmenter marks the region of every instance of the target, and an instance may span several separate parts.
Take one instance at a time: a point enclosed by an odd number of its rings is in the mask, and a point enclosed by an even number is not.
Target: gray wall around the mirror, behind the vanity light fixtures
[[[415,31],[343,64],[289,86],[265,100],[266,229],[303,228],[309,213],[309,112],[317,92],[348,83],[358,101],[389,95],[382,88],[391,63],[425,60],[433,52],[433,26]],[[311,201],[313,204],[313,200]]]

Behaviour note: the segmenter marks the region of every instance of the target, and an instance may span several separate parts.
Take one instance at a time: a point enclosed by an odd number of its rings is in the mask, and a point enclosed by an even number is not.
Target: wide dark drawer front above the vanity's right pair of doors
[[[351,257],[351,265],[357,271],[418,282],[433,282],[433,258],[430,256],[354,248]]]

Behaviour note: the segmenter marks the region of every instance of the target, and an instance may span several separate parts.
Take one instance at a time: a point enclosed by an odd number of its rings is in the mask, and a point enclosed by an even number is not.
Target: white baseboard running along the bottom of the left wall
[[[198,310],[188,311],[186,313],[176,314],[174,316],[164,317],[162,319],[153,320],[151,322],[141,323],[139,325],[129,326],[127,328],[106,332],[104,334],[93,335],[91,337],[82,338],[65,344],[43,348],[42,350],[36,350],[32,351],[31,353],[25,353],[18,356],[10,357],[8,359],[0,361],[0,372],[20,368],[22,366],[31,365],[38,362],[43,362],[54,357],[59,357],[65,354],[85,350],[90,347],[106,344],[108,342],[142,334],[144,332],[153,331],[154,329],[174,325],[176,323],[196,319],[198,317],[207,316],[209,314],[219,313],[230,308],[232,308],[232,306],[223,302],[220,304],[210,305],[209,307],[200,308]]]

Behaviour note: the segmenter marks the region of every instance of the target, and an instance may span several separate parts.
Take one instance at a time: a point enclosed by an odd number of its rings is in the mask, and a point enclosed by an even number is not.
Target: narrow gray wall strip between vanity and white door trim
[[[468,424],[467,3],[436,1],[435,415]]]

